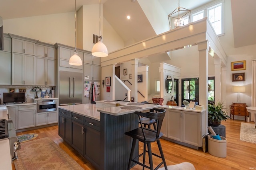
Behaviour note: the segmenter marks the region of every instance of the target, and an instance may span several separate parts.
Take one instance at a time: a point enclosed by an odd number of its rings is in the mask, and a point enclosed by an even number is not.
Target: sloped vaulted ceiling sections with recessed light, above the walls
[[[139,0],[144,1],[144,0]],[[148,6],[158,2],[166,18],[178,7],[178,0],[147,0]],[[218,0],[180,0],[180,6],[190,10]],[[0,16],[6,19],[58,14],[74,11],[75,0],[0,0]],[[101,0],[103,16],[124,41],[138,42],[156,35],[137,0]],[[82,5],[99,4],[99,0],[76,0],[76,9]],[[256,1],[231,0],[234,47],[256,44]],[[152,11],[158,12],[158,11]],[[131,19],[126,20],[130,15]],[[153,15],[154,16],[154,15]],[[230,31],[230,30],[225,30]]]

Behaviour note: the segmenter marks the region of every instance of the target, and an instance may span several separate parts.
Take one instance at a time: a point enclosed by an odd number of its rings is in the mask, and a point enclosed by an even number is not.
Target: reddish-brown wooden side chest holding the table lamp
[[[232,105],[229,106],[230,118],[231,118],[231,115],[233,115],[233,120],[234,120],[234,115],[239,115],[239,116],[244,116],[244,121],[246,121],[246,116],[249,115],[249,112],[247,111],[246,107],[247,107],[246,103],[232,103]]]

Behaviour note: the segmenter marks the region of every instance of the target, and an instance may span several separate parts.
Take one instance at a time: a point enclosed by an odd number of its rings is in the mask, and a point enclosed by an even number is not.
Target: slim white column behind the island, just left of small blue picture
[[[131,89],[132,94],[131,94],[131,98],[134,98],[134,102],[138,102],[138,63],[139,63],[139,59],[133,59],[131,61],[131,64],[132,64],[132,89]]]

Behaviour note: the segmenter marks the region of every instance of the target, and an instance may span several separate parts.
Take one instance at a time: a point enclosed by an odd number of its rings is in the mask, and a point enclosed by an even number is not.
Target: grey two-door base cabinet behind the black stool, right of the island
[[[164,135],[164,137],[196,147],[202,147],[205,111],[166,109],[166,113],[166,124],[164,122],[162,126],[164,131],[165,129],[167,131],[167,136]]]

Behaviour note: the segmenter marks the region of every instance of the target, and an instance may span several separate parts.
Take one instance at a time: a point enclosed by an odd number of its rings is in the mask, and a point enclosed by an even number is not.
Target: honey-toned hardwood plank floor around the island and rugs
[[[164,150],[164,157],[167,165],[178,164],[181,162],[192,163],[196,170],[248,170],[256,168],[256,144],[240,141],[240,124],[244,121],[228,119],[223,121],[222,125],[226,126],[227,139],[227,156],[226,158],[218,158],[204,153],[202,150],[190,149],[164,139],[161,140],[161,145]],[[250,122],[254,123],[254,122]],[[34,140],[50,137],[57,143],[65,152],[67,152],[80,166],[85,170],[95,170],[95,168],[82,156],[72,149],[68,144],[58,136],[58,126],[36,129],[32,131],[24,131],[17,135],[26,133],[37,133],[38,137]],[[142,152],[140,145],[140,152]],[[152,150],[158,152],[156,144],[152,145]],[[159,159],[153,156],[153,162],[156,165]],[[155,167],[155,166],[154,166]],[[162,166],[163,167],[163,166]],[[136,165],[132,170],[142,170],[142,166]]]

